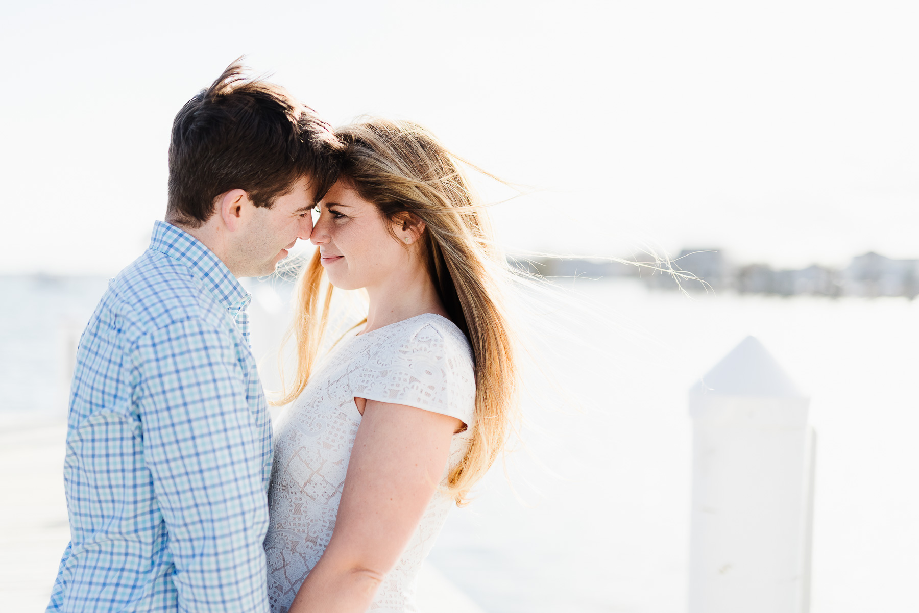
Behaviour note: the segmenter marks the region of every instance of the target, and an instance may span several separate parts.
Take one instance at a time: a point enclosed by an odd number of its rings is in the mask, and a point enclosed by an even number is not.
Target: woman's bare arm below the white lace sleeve
[[[289,613],[367,610],[434,496],[450,438],[462,427],[457,418],[375,400],[363,413],[332,540]]]

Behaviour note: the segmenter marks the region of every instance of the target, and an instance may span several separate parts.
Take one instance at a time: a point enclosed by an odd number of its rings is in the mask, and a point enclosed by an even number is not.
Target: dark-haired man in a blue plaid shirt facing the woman
[[[239,64],[176,115],[168,223],[80,340],[49,611],[268,610],[271,425],[236,278],[309,237],[339,146]]]

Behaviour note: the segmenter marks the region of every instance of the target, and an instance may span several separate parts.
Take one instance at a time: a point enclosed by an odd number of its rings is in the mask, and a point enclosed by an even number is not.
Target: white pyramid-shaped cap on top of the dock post
[[[752,336],[743,339],[715,364],[690,392],[705,396],[807,397],[766,351],[763,343]]]

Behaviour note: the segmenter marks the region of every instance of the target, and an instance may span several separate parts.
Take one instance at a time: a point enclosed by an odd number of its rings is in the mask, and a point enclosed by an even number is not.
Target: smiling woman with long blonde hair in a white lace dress
[[[320,203],[318,249],[299,281],[268,594],[280,613],[415,611],[415,575],[449,507],[514,424],[509,271],[459,160],[433,135],[382,119],[338,135],[342,175]],[[366,289],[368,314],[319,363],[332,286]]]

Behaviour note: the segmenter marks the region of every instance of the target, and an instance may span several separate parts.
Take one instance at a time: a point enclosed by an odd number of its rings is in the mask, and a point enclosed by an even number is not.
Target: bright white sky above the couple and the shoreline
[[[0,272],[114,273],[176,111],[241,54],[333,124],[425,123],[517,249],[919,257],[919,9],[872,2],[6,3]]]

